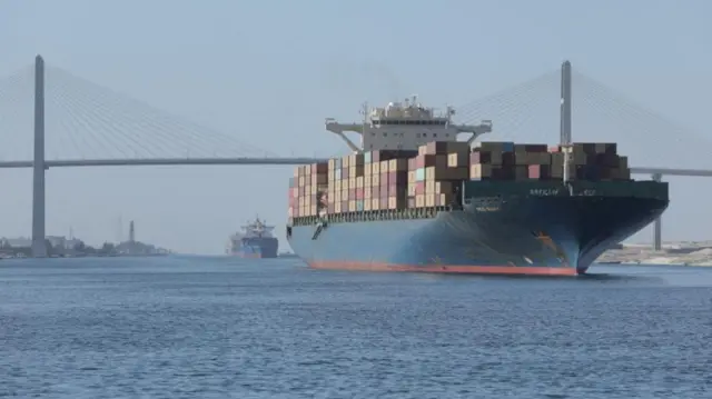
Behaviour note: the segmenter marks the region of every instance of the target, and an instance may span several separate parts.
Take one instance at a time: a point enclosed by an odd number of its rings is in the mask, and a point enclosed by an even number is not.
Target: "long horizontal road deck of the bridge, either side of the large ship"
[[[46,160],[47,168],[67,167],[138,167],[138,166],[178,166],[178,164],[306,164],[324,162],[326,158],[138,158],[138,159],[66,159]],[[32,161],[0,161],[0,168],[31,168]],[[712,169],[678,169],[632,167],[634,174],[664,174],[712,177]]]

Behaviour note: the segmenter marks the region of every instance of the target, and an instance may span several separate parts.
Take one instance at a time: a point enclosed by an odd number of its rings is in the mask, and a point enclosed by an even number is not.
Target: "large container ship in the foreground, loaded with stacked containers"
[[[327,119],[353,153],[295,169],[295,253],[318,269],[575,276],[669,205],[668,183],[631,179],[616,143],[475,141],[492,121],[453,114],[413,98]]]

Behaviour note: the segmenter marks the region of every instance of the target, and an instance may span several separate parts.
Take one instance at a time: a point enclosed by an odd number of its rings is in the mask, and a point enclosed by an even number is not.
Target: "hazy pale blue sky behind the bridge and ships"
[[[711,14],[705,0],[0,0],[0,77],[41,53],[50,66],[270,152],[330,156],[347,149],[324,130],[324,118],[357,120],[365,100],[418,93],[436,107],[465,106],[570,59],[575,71],[676,123],[673,129],[631,111],[629,124],[603,124],[595,109],[610,116],[623,107],[605,108],[596,102],[603,93],[582,92],[574,140],[620,141],[633,164],[703,168],[712,167]],[[490,139],[555,142],[555,80],[553,107],[525,99],[501,117],[495,106],[481,106],[497,113],[481,116],[494,119],[495,130],[516,114],[546,114]],[[2,159],[31,153],[26,109],[26,131],[0,120]],[[50,158],[76,156],[53,148],[59,139],[51,134],[48,127]],[[159,147],[150,131],[137,134]],[[221,252],[228,235],[259,213],[278,227],[286,247],[290,173],[289,167],[238,166],[52,169],[47,232],[67,235],[71,227],[89,243],[117,240],[121,216],[125,235],[134,219],[142,241],[210,253]],[[712,239],[712,179],[670,181],[664,237]],[[0,170],[0,236],[29,236],[31,170]],[[647,228],[635,240],[650,235]]]

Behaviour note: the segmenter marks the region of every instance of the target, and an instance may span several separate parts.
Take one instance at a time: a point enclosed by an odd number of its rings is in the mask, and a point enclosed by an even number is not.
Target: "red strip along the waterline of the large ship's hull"
[[[378,262],[309,261],[314,269],[359,271],[411,271],[427,273],[518,275],[518,276],[577,276],[575,268],[513,267],[513,266],[415,266]]]

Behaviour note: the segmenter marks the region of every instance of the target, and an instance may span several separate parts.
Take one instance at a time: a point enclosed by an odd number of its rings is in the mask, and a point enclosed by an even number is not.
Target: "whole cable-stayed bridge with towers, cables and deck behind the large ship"
[[[631,159],[632,171],[653,179],[663,174],[712,177],[712,166],[700,164],[700,157],[663,157],[706,147],[706,140],[585,74],[568,73],[573,89],[570,97],[564,96],[570,100],[564,103],[570,104],[574,141],[619,142],[621,152]],[[486,140],[552,142],[561,124],[562,72],[544,73],[456,109],[455,117],[462,123],[494,121],[493,133]],[[650,159],[651,154],[678,163],[639,161]],[[283,157],[261,150],[233,134],[192,123],[44,64],[39,56],[33,66],[0,79],[0,168],[34,169],[32,240],[38,257],[46,253],[48,168],[303,164],[326,158]],[[657,221],[654,229],[657,248],[661,239]]]

